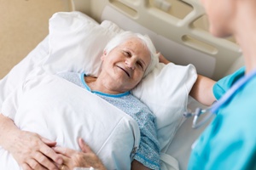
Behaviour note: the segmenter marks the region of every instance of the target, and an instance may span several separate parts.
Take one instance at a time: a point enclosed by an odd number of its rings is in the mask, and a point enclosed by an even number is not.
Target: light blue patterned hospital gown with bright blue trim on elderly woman
[[[84,73],[63,72],[59,73],[58,76],[82,88],[86,88],[91,93],[107,100],[131,116],[137,122],[141,133],[141,141],[134,159],[151,169],[160,169],[160,144],[157,139],[156,120],[147,105],[144,105],[143,102],[130,94],[130,92],[124,94],[103,94],[98,91],[91,91],[84,81]]]

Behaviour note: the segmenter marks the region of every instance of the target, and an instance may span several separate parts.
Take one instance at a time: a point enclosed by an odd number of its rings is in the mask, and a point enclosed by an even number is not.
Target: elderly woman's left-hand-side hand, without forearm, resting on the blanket
[[[37,133],[21,131],[9,152],[23,169],[58,169],[55,163],[61,165],[62,159],[51,148],[55,144]]]

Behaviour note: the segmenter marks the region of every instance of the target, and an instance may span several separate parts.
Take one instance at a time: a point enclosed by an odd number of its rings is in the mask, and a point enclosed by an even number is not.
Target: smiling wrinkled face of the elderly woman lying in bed
[[[129,91],[142,80],[151,57],[141,40],[131,38],[102,55],[102,72],[111,79],[113,87]]]

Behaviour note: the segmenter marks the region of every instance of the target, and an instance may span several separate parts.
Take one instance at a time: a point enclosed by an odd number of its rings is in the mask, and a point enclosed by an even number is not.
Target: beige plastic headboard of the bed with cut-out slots
[[[243,65],[234,38],[207,31],[199,0],[72,0],[73,10],[99,23],[111,20],[124,30],[148,34],[161,54],[177,65],[195,65],[218,80]]]

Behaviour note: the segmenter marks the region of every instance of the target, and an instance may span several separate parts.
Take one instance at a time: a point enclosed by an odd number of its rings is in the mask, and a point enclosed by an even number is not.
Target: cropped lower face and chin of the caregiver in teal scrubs
[[[210,23],[209,31],[216,37],[228,37],[234,17],[234,0],[201,0]]]

